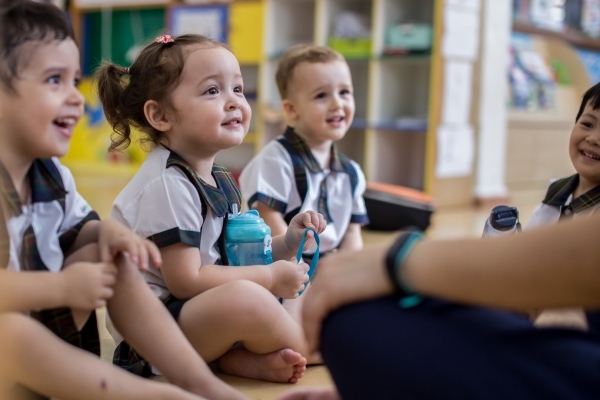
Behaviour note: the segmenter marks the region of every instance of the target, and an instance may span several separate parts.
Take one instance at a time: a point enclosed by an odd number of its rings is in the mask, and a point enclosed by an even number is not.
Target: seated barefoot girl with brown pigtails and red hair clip
[[[250,123],[237,59],[203,36],[161,36],[130,68],[105,64],[97,77],[115,130],[112,148],[127,147],[131,127],[154,146],[112,210],[160,248],[161,270],[150,267],[146,281],[202,358],[218,359],[232,375],[297,382],[306,369],[304,337],[276,297],[303,289],[308,266],[284,260],[294,257],[305,227],[320,232],[326,224],[315,212],[298,214],[273,239],[279,261],[220,265],[220,238],[240,195],[213,162],[220,150],[242,143]],[[115,354],[126,368],[147,365],[125,342]]]

